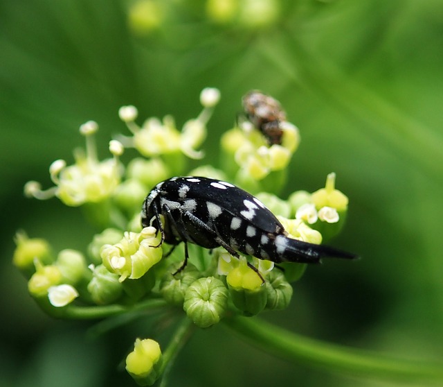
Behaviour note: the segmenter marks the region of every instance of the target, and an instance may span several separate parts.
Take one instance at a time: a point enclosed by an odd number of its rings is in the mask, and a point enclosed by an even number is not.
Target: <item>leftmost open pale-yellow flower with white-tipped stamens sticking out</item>
[[[49,167],[55,187],[42,191],[38,182],[30,181],[25,185],[26,196],[42,200],[57,196],[69,206],[99,203],[109,198],[120,183],[122,170],[118,157],[123,153],[123,146],[116,140],[110,141],[109,150],[114,157],[99,162],[93,138],[97,130],[94,121],[80,126],[80,133],[86,137],[86,153],[75,150],[75,163],[70,166],[66,166],[64,160],[55,160]]]

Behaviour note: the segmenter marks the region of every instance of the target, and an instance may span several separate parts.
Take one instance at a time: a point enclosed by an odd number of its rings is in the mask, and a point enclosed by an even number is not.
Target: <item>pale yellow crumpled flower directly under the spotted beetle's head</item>
[[[140,278],[160,261],[162,250],[155,247],[159,246],[160,238],[154,227],[145,227],[140,233],[125,232],[120,242],[102,246],[103,264],[111,273],[120,275],[120,282]]]

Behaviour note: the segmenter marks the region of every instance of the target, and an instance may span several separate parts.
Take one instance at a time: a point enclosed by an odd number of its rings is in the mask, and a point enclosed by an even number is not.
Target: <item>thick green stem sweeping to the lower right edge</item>
[[[257,318],[234,317],[226,325],[267,352],[332,372],[375,379],[443,383],[443,364],[410,361],[307,338]]]

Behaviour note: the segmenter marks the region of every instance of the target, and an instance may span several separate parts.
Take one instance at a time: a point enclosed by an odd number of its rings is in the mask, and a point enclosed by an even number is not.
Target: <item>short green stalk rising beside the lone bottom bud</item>
[[[174,336],[172,336],[168,348],[166,348],[165,352],[163,352],[163,362],[159,372],[159,374],[162,375],[160,387],[165,387],[168,385],[168,376],[172,368],[172,364],[177,358],[180,350],[188,341],[192,329],[194,328],[195,325],[190,318],[185,317],[181,320],[179,326],[174,332]]]

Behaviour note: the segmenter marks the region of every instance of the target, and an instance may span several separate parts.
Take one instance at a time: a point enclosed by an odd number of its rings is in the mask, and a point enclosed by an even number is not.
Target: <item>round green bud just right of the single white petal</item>
[[[111,273],[104,265],[96,268],[91,266],[92,279],[88,284],[88,291],[93,302],[98,305],[111,304],[120,298],[123,286],[118,281],[118,274]]]

